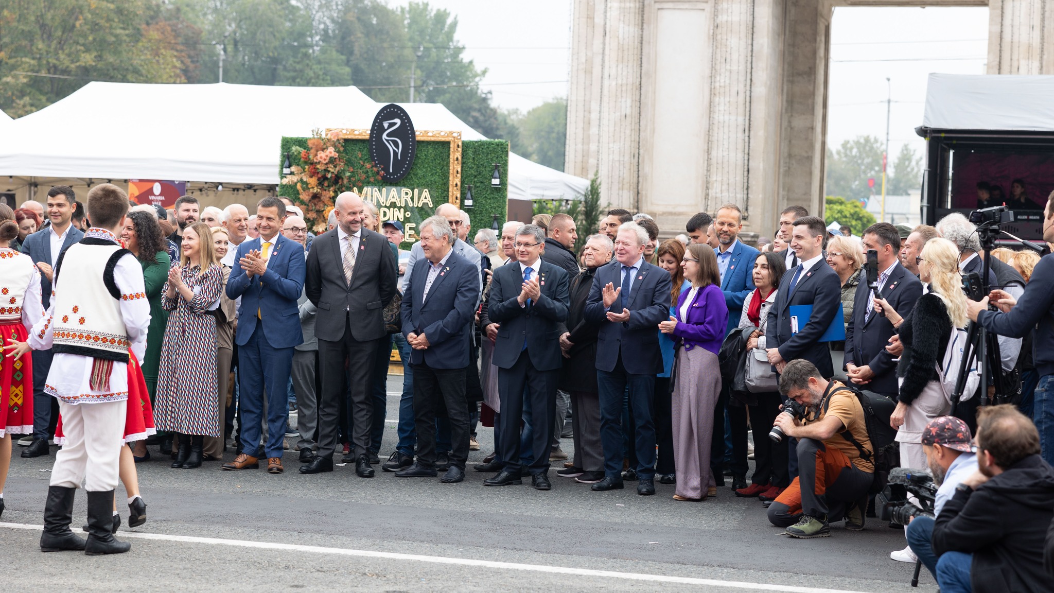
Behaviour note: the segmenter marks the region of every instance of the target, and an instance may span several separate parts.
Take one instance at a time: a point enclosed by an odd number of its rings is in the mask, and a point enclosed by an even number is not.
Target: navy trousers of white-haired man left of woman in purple
[[[656,428],[651,421],[655,375],[632,375],[625,371],[620,360],[614,369],[597,371],[600,391],[600,440],[604,448],[604,475],[614,480],[622,479],[622,455],[624,432],[621,425],[622,398],[629,387],[629,406],[633,414],[636,429],[637,475],[655,478]]]

